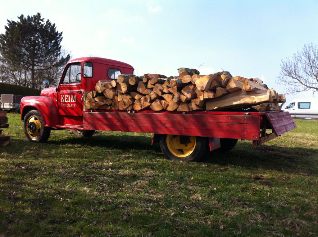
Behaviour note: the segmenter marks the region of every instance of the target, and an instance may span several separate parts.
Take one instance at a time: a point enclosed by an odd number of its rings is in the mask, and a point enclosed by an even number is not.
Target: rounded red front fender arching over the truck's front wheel
[[[57,104],[47,96],[25,96],[21,99],[21,120],[26,113],[33,108],[37,109],[42,116],[45,127],[54,128],[59,125],[59,112]]]

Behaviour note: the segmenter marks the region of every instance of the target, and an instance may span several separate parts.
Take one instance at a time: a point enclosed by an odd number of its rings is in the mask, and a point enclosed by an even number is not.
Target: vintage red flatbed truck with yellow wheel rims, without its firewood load
[[[67,63],[59,85],[41,96],[21,100],[21,120],[26,137],[46,142],[51,130],[73,129],[90,137],[95,130],[153,133],[163,154],[182,161],[199,161],[208,150],[228,151],[238,139],[257,146],[296,128],[288,112],[169,112],[83,109],[84,92],[101,79],[116,80],[134,68],[115,60],[82,57]],[[266,129],[268,133],[266,133]]]

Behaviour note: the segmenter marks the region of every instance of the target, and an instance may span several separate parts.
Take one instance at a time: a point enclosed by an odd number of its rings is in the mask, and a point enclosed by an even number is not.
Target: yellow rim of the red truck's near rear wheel
[[[177,157],[191,155],[196,147],[195,136],[167,135],[167,146],[169,151]]]

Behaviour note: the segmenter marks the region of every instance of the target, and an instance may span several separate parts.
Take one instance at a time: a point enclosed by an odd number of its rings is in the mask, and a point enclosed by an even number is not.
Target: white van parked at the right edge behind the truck
[[[284,111],[289,112],[293,118],[318,118],[318,98],[294,99]]]

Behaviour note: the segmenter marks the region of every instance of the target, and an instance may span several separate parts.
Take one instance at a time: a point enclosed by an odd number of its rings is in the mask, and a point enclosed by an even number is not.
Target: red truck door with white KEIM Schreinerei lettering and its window
[[[82,116],[81,64],[68,65],[59,85],[58,109],[60,115]]]

